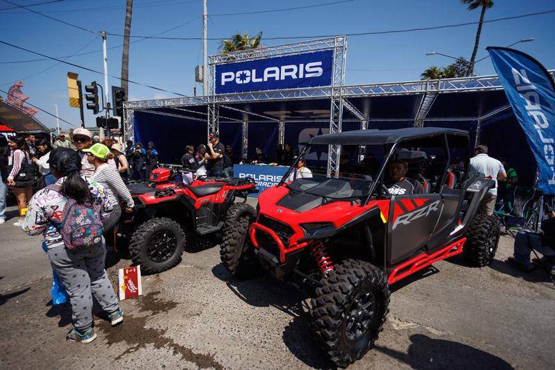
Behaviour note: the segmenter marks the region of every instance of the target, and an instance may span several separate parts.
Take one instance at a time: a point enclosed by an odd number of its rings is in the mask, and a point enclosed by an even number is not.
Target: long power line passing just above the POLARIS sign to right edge
[[[555,12],[555,9],[552,10],[545,10],[543,12],[531,12],[521,15],[513,15],[512,17],[502,17],[497,19],[490,19],[484,21],[484,23],[493,23],[493,22],[502,22],[511,19],[520,19],[525,17],[534,17],[536,15],[545,15],[549,13]],[[367,35],[385,35],[388,33],[407,33],[407,32],[414,32],[414,31],[431,31],[431,30],[438,30],[441,28],[454,28],[454,27],[462,27],[462,26],[471,26],[479,24],[479,22],[465,22],[465,23],[457,23],[457,24],[443,24],[441,26],[429,26],[429,27],[418,27],[418,28],[403,28],[398,30],[388,30],[388,31],[369,31],[369,32],[360,32],[360,33],[345,33],[345,36],[367,36]],[[108,35],[112,36],[120,36],[123,35],[118,33],[108,33]],[[293,39],[311,39],[311,38],[323,38],[323,37],[333,37],[336,35],[302,35],[302,36],[276,36],[276,37],[264,37],[264,40],[293,40]],[[141,38],[151,38],[151,39],[160,39],[160,40],[203,40],[203,37],[149,37],[149,36],[138,36],[138,35],[130,35],[130,37],[141,37]],[[207,40],[225,40],[229,37],[207,37]]]

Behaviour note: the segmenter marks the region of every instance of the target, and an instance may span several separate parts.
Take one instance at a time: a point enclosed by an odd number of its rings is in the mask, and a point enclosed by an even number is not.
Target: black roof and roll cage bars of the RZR
[[[352,146],[364,146],[364,145],[382,145],[384,146],[384,160],[382,165],[379,167],[375,180],[370,187],[370,190],[366,196],[364,196],[364,201],[361,201],[361,205],[366,205],[372,194],[374,194],[377,186],[382,186],[384,181],[384,172],[386,165],[393,158],[394,153],[400,147],[400,144],[404,142],[411,142],[414,147],[422,146],[436,146],[438,137],[443,137],[443,149],[445,152],[445,168],[443,169],[443,174],[440,178],[439,184],[444,184],[447,179],[449,165],[451,163],[451,153],[450,149],[463,149],[465,151],[462,158],[465,158],[463,174],[466,174],[468,169],[468,163],[470,158],[470,147],[468,132],[457,130],[455,128],[441,128],[441,127],[423,127],[423,128],[399,128],[395,130],[355,130],[355,131],[344,131],[342,133],[332,133],[326,135],[319,135],[312,137],[311,140],[305,145],[304,148],[297,155],[293,162],[293,165],[289,167],[287,172],[282,177],[282,180],[278,186],[284,185],[287,178],[291,175],[291,171],[296,171],[297,163],[300,158],[303,158],[307,149],[311,145],[352,145]],[[429,145],[432,143],[432,145]],[[341,149],[339,150],[341,155]],[[332,174],[333,177],[339,177],[339,171]],[[462,180],[462,179],[460,179]],[[438,193],[441,194],[443,187],[438,187]],[[361,196],[355,196],[354,198],[361,199]],[[342,201],[349,201],[349,198],[341,199]]]

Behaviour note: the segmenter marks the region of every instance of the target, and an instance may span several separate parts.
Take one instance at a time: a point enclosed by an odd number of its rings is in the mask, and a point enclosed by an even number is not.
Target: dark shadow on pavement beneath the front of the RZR
[[[273,307],[289,314],[291,321],[284,328],[282,338],[296,358],[316,369],[334,368],[332,362],[327,360],[318,345],[310,338],[309,308],[305,303],[305,294],[268,274],[250,280],[238,280],[230,276],[223,264],[214,266],[212,273],[248,305]]]

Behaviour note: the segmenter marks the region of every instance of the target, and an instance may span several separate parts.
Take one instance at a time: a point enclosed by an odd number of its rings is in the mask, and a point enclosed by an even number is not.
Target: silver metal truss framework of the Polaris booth
[[[491,76],[472,76],[464,78],[449,78],[429,81],[407,81],[398,83],[373,83],[367,85],[344,85],[345,60],[346,60],[347,40],[345,36],[327,37],[321,40],[310,40],[307,42],[297,42],[294,44],[278,45],[275,47],[265,47],[247,51],[237,51],[234,53],[219,54],[209,58],[209,90],[207,96],[185,96],[176,99],[160,99],[146,101],[128,101],[123,103],[123,127],[124,136],[127,140],[134,140],[134,117],[137,112],[150,112],[159,115],[171,115],[172,117],[182,117],[207,121],[207,131],[218,132],[220,119],[226,121],[241,121],[243,128],[242,142],[243,155],[248,149],[248,124],[256,121],[275,121],[278,122],[278,137],[280,144],[284,141],[284,120],[257,112],[248,112],[232,106],[233,103],[256,102],[256,101],[298,101],[314,99],[330,99],[330,133],[341,132],[343,122],[343,108],[347,109],[352,115],[357,117],[361,123],[361,129],[368,128],[370,117],[362,114],[352,103],[350,98],[373,97],[373,96],[394,96],[394,95],[420,95],[422,96],[418,109],[414,114],[413,125],[422,127],[429,110],[439,94],[450,94],[460,92],[487,92],[503,90],[499,78]],[[215,70],[216,65],[239,62],[246,60],[256,60],[271,58],[274,56],[293,55],[306,53],[307,51],[333,50],[334,62],[332,72],[332,85],[326,87],[302,87],[296,89],[241,92],[233,94],[214,94],[215,91]],[[549,71],[554,77],[554,71]],[[187,109],[187,107],[206,107],[206,112]],[[155,109],[158,108],[158,109]],[[160,108],[172,108],[173,112],[162,112]],[[222,109],[234,110],[243,113],[243,119],[233,119],[220,115]],[[502,108],[505,110],[506,108]],[[180,112],[187,112],[182,115]],[[204,118],[191,117],[190,114],[203,115]],[[497,114],[497,110],[489,112],[477,120],[482,121],[490,115]],[[252,117],[252,119],[249,119]],[[470,119],[476,119],[472,117]],[[398,119],[395,119],[398,121]],[[289,122],[289,120],[288,120]],[[329,159],[327,163],[327,173],[329,175],[339,174],[340,148],[330,146]],[[364,156],[364,148],[361,147],[361,156]]]

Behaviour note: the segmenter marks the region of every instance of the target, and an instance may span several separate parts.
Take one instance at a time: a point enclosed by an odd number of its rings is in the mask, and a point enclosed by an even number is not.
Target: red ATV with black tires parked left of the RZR
[[[173,170],[159,168],[150,183],[130,183],[135,210],[123,212],[114,230],[115,249],[128,246],[130,258],[147,274],[176,266],[187,233],[219,233],[224,219],[244,206],[234,204],[235,198],[257,191],[250,178],[194,180],[187,185],[175,177]]]

